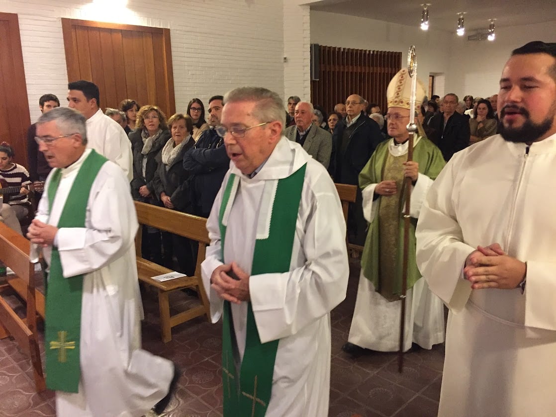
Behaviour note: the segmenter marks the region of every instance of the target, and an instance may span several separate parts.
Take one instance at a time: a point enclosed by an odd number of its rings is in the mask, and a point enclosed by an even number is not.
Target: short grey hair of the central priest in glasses
[[[237,87],[226,93],[224,105],[240,101],[257,103],[253,110],[253,117],[259,122],[279,121],[282,129],[286,125],[284,102],[277,93],[264,87]]]

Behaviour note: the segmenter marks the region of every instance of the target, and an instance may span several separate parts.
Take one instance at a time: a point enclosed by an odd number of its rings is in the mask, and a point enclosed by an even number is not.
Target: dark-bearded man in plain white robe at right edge
[[[500,134],[451,158],[416,230],[450,309],[442,417],[556,412],[556,43],[512,52],[498,109]]]

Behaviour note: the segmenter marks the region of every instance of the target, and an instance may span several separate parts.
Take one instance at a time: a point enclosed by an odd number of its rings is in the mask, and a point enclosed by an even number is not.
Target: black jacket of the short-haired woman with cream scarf
[[[156,156],[158,168],[152,180],[158,201],[162,203],[160,195],[162,192],[165,192],[170,197],[175,210],[182,212],[191,211],[189,182],[187,181],[189,173],[183,168],[183,155],[193,147],[193,143],[193,138],[190,137],[168,169],[162,163],[162,152],[158,152]]]

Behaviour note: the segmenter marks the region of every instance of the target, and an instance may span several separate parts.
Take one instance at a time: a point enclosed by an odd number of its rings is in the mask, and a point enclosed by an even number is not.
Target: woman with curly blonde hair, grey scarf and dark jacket
[[[157,106],[143,106],[137,113],[135,127],[135,131],[130,133],[133,152],[131,195],[136,201],[158,205],[153,178],[158,166],[156,156],[170,138],[166,116]],[[167,256],[162,258],[160,230],[151,226],[143,227],[141,245],[143,258],[155,264],[171,265],[171,255],[169,258]]]

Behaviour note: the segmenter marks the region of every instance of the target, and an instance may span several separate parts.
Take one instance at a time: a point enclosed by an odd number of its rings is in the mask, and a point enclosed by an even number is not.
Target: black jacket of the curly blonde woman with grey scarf
[[[158,163],[156,161],[156,156],[168,139],[171,137],[171,133],[168,130],[162,131],[157,140],[152,144],[151,151],[147,153],[147,166],[145,168],[145,177],[143,177],[143,155],[141,151],[143,150],[143,140],[141,138],[141,131],[133,131],[130,133],[130,141],[132,143],[131,152],[133,153],[133,179],[131,180],[131,195],[134,200],[152,202],[150,198],[145,199],[139,193],[139,188],[146,185],[148,191],[154,196],[155,187],[153,186],[152,180],[155,177],[156,168]]]

